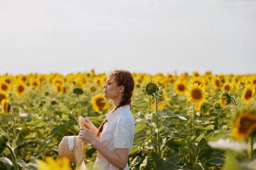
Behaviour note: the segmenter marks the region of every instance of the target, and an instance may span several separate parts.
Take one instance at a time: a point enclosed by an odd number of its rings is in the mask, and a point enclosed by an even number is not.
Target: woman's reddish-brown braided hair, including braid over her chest
[[[119,107],[130,104],[131,105],[131,98],[133,95],[133,89],[134,89],[134,80],[133,75],[129,71],[125,70],[115,70],[111,72],[108,76],[108,79],[111,79],[112,81],[116,81],[117,85],[123,85],[124,86],[124,95],[122,101],[113,109],[112,112],[117,110]],[[107,80],[108,81],[108,80]],[[107,97],[107,96],[106,96]],[[103,125],[107,122],[107,119],[105,118],[101,124],[101,126],[98,129],[98,136],[101,134],[103,130]]]

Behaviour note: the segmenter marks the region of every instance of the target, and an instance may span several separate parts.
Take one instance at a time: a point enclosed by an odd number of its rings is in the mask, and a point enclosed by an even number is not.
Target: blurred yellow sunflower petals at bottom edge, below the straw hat
[[[67,157],[57,158],[56,161],[51,157],[46,157],[45,162],[39,160],[37,162],[38,170],[72,170]]]

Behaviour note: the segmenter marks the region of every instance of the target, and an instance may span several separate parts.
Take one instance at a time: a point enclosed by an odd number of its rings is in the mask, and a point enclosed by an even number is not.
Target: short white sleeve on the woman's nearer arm
[[[128,118],[120,118],[114,124],[114,146],[115,148],[129,148],[131,136],[131,123]]]

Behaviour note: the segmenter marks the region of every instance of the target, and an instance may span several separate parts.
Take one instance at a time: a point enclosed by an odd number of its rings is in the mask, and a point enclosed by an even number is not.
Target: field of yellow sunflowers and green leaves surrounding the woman
[[[256,170],[256,74],[133,73],[131,170]],[[113,107],[107,75],[0,75],[0,170],[72,170],[59,158],[78,117],[97,127]],[[97,150],[85,143],[85,164]]]

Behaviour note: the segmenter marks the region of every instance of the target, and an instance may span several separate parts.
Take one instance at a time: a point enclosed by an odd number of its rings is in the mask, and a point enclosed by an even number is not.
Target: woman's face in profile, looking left
[[[120,95],[120,87],[113,79],[107,79],[106,85],[103,85],[105,90],[103,91],[104,97],[108,99],[116,99]]]

